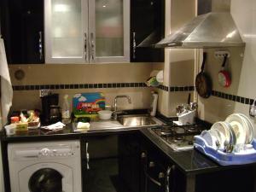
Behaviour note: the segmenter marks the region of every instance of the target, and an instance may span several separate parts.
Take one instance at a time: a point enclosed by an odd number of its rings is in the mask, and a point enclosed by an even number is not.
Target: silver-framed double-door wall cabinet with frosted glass
[[[130,61],[129,0],[45,0],[46,63]]]

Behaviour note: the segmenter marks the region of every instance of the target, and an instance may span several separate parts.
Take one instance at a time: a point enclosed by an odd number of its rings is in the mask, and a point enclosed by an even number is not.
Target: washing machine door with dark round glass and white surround
[[[20,170],[20,192],[74,192],[73,170],[59,163],[38,163]]]

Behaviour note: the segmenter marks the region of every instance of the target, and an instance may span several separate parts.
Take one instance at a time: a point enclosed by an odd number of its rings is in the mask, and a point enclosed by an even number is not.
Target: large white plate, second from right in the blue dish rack
[[[230,114],[230,116],[225,119],[227,123],[230,123],[233,131],[236,135],[236,144],[247,143],[247,122],[237,113]]]

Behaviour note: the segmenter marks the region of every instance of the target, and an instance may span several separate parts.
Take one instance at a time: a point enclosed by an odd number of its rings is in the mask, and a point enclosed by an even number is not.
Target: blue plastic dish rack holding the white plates
[[[195,136],[194,147],[202,154],[206,154],[221,166],[243,165],[256,162],[256,140],[253,139],[253,148],[246,149],[240,153],[225,153],[221,149],[212,148],[204,138]]]

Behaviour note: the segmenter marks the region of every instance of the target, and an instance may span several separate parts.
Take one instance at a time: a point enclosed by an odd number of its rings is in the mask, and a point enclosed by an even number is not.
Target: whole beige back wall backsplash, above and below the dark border
[[[150,89],[146,80],[159,63],[120,63],[90,65],[10,65],[10,75],[14,87],[13,110],[20,108],[41,108],[39,91],[50,89],[59,94],[61,105],[63,96],[82,92],[102,92],[107,104],[113,105],[117,95],[131,96],[131,104],[119,100],[119,108],[149,108]],[[15,71],[21,69],[25,78],[15,79]],[[72,102],[71,102],[72,103]]]

